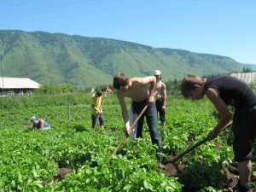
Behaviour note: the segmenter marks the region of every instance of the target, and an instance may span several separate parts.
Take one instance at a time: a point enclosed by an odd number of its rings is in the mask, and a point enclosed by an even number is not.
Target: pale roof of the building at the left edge
[[[28,78],[4,78],[0,77],[1,89],[38,89],[41,84]]]

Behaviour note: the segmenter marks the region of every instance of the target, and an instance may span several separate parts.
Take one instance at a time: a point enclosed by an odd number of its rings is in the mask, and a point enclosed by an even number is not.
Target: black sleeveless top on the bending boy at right
[[[207,79],[205,90],[215,88],[226,105],[236,108],[256,106],[256,95],[253,90],[240,79],[229,75],[217,75]]]

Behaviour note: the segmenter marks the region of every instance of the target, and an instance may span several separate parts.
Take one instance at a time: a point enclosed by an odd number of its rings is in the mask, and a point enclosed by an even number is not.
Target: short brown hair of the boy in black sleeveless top
[[[185,98],[188,98],[190,96],[190,92],[195,90],[195,84],[203,84],[202,79],[197,75],[188,74],[183,78],[181,90]]]

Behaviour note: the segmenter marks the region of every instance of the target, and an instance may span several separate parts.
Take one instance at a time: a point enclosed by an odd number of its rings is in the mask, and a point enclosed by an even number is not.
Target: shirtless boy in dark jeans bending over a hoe
[[[129,122],[129,113],[125,103],[125,97],[129,97],[132,101],[132,108],[137,114],[141,113],[143,108],[148,105],[148,108],[137,122],[136,137],[143,137],[143,122],[145,116],[148,123],[151,141],[153,144],[157,145],[156,156],[159,160],[162,160],[160,134],[157,128],[157,111],[154,104],[155,84],[156,79],[154,76],[128,79],[124,73],[117,73],[113,77],[113,88],[117,90],[117,96],[125,122],[125,134],[130,136],[132,131]],[[149,91],[148,85],[150,86]]]

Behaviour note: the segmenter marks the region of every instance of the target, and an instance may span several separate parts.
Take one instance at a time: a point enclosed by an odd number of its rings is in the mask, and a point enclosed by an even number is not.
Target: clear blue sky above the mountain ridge
[[[256,64],[255,0],[7,0],[0,30],[113,38]]]

